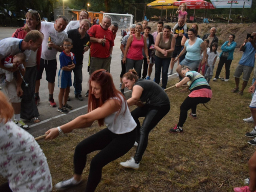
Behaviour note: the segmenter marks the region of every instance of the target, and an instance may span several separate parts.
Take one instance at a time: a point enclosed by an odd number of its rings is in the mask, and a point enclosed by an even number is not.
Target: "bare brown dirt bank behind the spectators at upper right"
[[[176,23],[165,23],[164,25],[169,25],[173,29],[175,24]],[[157,30],[157,22],[150,22],[148,23],[148,26],[151,27],[151,33]],[[187,26],[190,27],[191,24],[187,24]],[[256,32],[256,24],[198,24],[198,26],[200,37],[209,33],[211,27],[216,27],[216,35],[219,38],[219,47],[228,40],[229,34],[236,35],[234,40],[237,42],[237,47],[240,47],[243,44],[247,33]]]

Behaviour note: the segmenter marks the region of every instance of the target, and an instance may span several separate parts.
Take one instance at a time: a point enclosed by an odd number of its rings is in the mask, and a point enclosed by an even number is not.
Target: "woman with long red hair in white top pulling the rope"
[[[60,132],[70,133],[74,129],[89,127],[95,120],[107,128],[81,141],[74,154],[74,177],[55,185],[56,189],[76,186],[81,182],[87,154],[101,150],[92,159],[86,191],[94,191],[100,182],[102,168],[123,156],[133,147],[136,139],[136,122],[122,93],[116,90],[112,76],[105,70],[95,71],[89,80],[88,114],[50,129],[46,139],[56,138]]]

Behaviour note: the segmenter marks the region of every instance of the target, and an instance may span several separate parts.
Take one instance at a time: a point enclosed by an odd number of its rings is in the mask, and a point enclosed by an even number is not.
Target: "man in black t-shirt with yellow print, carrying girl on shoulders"
[[[174,36],[176,38],[176,43],[175,43],[175,48],[174,48],[174,52],[173,52],[173,56],[172,56],[172,60],[170,60],[170,72],[168,73],[168,75],[172,75],[173,74],[173,69],[174,69],[174,60],[175,58],[180,54],[181,52],[181,40],[182,37],[184,35],[184,28],[182,27],[184,24],[185,20],[184,18],[179,18],[178,20],[178,27],[177,29],[173,32]],[[179,62],[178,62],[179,65]]]

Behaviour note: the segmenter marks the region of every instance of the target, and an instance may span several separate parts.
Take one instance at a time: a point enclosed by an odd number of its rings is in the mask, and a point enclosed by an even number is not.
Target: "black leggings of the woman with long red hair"
[[[125,134],[114,134],[108,128],[81,141],[74,154],[74,172],[82,175],[86,166],[87,154],[101,150],[91,161],[86,192],[94,191],[101,179],[102,167],[123,156],[134,145],[136,129]]]

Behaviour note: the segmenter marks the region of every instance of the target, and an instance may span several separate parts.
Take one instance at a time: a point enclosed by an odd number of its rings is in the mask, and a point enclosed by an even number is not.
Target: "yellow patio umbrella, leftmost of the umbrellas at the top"
[[[162,11],[166,10],[165,19],[167,19],[167,9],[174,10],[174,8],[177,8],[176,6],[173,6],[174,2],[177,2],[177,1],[176,0],[157,0],[147,4],[146,6],[149,8],[161,10],[161,17],[162,17]]]

